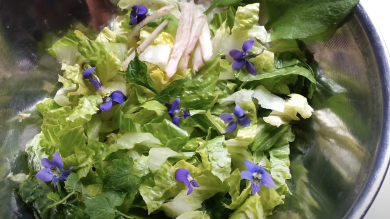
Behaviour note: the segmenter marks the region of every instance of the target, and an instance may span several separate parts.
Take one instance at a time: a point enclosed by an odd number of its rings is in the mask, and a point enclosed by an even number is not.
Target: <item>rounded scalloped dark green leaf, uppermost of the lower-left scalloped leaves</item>
[[[133,164],[134,161],[128,156],[112,160],[103,177],[104,187],[128,193],[136,192],[141,184],[141,179],[131,172]]]

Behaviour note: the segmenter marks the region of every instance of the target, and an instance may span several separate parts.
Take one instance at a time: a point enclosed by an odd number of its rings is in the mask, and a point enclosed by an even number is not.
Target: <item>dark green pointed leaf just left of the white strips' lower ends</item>
[[[138,58],[138,53],[135,51],[135,57],[127,66],[126,83],[135,83],[142,85],[153,92],[156,92],[156,86],[147,72],[147,66]]]

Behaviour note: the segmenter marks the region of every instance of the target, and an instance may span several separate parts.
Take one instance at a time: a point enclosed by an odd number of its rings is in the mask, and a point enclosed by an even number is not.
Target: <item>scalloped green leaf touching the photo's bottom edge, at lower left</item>
[[[104,191],[94,197],[85,199],[85,213],[94,219],[114,219],[115,206],[123,203],[123,195],[115,191]]]

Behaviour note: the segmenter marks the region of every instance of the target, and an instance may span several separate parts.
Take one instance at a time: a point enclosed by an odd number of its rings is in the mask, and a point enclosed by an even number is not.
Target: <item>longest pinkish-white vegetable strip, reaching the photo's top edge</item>
[[[181,6],[182,9],[180,20],[177,26],[173,51],[170,54],[169,62],[165,68],[165,72],[168,78],[172,77],[173,74],[176,73],[177,64],[185,48],[187,47],[187,44],[189,43],[189,37],[191,35],[193,8],[195,4],[193,3],[193,0],[191,0],[190,2],[183,2]]]

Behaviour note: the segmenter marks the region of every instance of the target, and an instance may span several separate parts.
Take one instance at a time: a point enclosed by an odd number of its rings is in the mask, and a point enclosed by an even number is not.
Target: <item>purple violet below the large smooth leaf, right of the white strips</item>
[[[250,54],[248,53],[254,45],[254,39],[248,39],[242,44],[242,51],[231,49],[229,55],[234,59],[231,67],[233,69],[240,69],[245,65],[245,69],[252,75],[256,75],[257,71],[252,62],[249,61]]]

